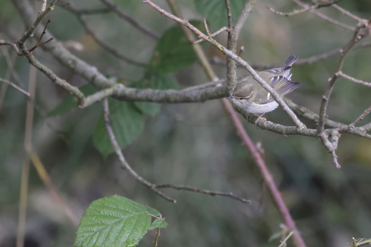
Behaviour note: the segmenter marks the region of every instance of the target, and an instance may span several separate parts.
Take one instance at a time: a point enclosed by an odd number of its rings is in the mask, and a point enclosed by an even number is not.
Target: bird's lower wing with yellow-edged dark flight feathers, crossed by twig
[[[293,90],[297,89],[300,86],[299,82],[290,81],[286,77],[283,76],[276,76],[272,78],[272,82],[270,83],[270,86],[273,87],[273,89],[279,94],[280,97],[292,92]],[[270,95],[269,92],[267,92],[265,89],[263,89],[261,92],[259,92],[257,95],[260,99],[266,99],[263,100],[259,104],[267,104],[270,102],[275,101]]]

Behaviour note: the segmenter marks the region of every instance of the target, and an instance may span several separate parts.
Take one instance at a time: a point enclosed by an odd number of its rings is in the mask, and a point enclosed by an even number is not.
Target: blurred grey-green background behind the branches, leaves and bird
[[[30,2],[37,13],[41,2]],[[205,14],[197,11],[197,2],[176,0],[186,19],[202,21]],[[114,3],[158,36],[176,26],[173,20],[161,16],[142,1],[116,0]],[[170,11],[164,0],[154,0],[154,3]],[[70,1],[70,4],[76,9],[104,7],[98,0]],[[370,18],[369,0],[344,0],[339,5],[362,18]],[[299,58],[310,57],[342,47],[353,35],[352,31],[319,19],[312,13],[278,16],[266,6],[283,12],[301,9],[289,0],[257,1],[238,42],[239,46],[244,46],[241,56],[248,62],[280,64],[290,54]],[[352,27],[357,24],[333,7],[319,11]],[[226,25],[225,13],[214,13],[208,17],[211,32]],[[52,19],[48,30],[56,39],[103,74],[131,83],[143,77],[143,67],[119,60],[102,49],[85,33],[76,15],[70,11],[56,6],[46,19]],[[150,60],[157,41],[140,33],[114,13],[88,15],[86,21],[100,39],[122,54],[145,64]],[[0,39],[18,39],[26,30],[9,0],[0,1],[0,23]],[[27,41],[27,47],[32,47],[37,38]],[[216,39],[226,44],[227,34],[221,33]],[[360,43],[370,41],[368,37]],[[225,60],[223,54],[209,44],[204,44],[204,49],[208,57]],[[42,49],[36,49],[34,55],[69,83],[79,87],[88,83]],[[27,89],[30,65],[27,59],[17,57],[11,47],[0,47],[0,77],[4,78],[8,71],[6,56],[15,60],[14,70],[24,83],[22,87]],[[345,60],[343,72],[371,81],[370,58],[370,48],[352,50]],[[327,80],[334,73],[338,59],[335,56],[310,65],[294,64],[292,79],[302,85],[288,98],[318,113]],[[214,65],[214,69],[219,78],[226,77],[225,67]],[[237,73],[238,76],[248,74],[243,69]],[[171,76],[180,87],[207,82],[197,62]],[[11,80],[14,82],[13,77]],[[233,192],[252,200],[251,205],[231,198],[173,189],[163,191],[174,197],[176,204],[158,197],[122,170],[115,154],[103,157],[93,145],[92,133],[102,114],[101,104],[83,110],[74,108],[48,117],[47,113],[55,109],[68,93],[39,71],[36,82],[38,109],[33,118],[33,148],[58,193],[77,218],[93,200],[118,194],[153,207],[166,218],[169,225],[161,230],[160,246],[279,245],[280,239],[268,240],[282,231],[283,220],[267,191],[261,189],[261,177],[251,155],[241,145],[218,100],[162,104],[157,116],[145,118],[144,131],[124,148],[124,155],[129,164],[151,182]],[[329,118],[351,123],[370,106],[370,93],[371,88],[338,79],[329,101]],[[0,246],[4,247],[15,246],[20,174],[26,156],[23,145],[26,104],[27,98],[23,94],[8,87],[0,108]],[[265,117],[275,123],[293,125],[280,107]],[[371,237],[370,139],[343,134],[337,150],[342,167],[336,169],[331,154],[318,139],[285,137],[260,130],[241,119],[252,140],[262,144],[267,167],[307,246],[345,247],[352,237]],[[313,122],[302,120],[307,127],[315,128]],[[360,124],[370,121],[369,116]],[[70,223],[32,165],[28,189],[25,246],[72,246],[77,228]],[[150,246],[154,237],[155,231],[149,231],[139,246]],[[293,246],[292,241],[288,241],[288,245]]]

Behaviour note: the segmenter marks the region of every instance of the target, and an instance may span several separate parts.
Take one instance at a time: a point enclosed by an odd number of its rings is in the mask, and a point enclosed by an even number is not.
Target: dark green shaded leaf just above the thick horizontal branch
[[[200,21],[190,21],[200,29]],[[151,69],[160,73],[171,73],[183,70],[197,60],[192,44],[181,27],[171,27],[157,41],[157,46],[150,60]]]

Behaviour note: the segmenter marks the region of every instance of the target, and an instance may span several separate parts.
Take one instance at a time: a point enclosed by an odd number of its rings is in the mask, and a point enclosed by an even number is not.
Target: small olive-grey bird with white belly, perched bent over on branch
[[[271,87],[279,94],[284,96],[300,86],[300,83],[290,81],[291,65],[298,59],[291,55],[280,68],[258,72]],[[252,76],[241,79],[232,89],[227,99],[232,99],[234,103],[242,107],[248,113],[259,114],[257,121],[267,112],[273,111],[278,107],[278,103],[272,95],[265,90]]]

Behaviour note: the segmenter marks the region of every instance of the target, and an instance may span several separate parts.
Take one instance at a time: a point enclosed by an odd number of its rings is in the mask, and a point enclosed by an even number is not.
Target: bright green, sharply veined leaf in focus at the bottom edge
[[[151,226],[148,208],[117,195],[93,201],[82,215],[74,246],[137,246]],[[157,227],[166,224],[163,221]]]

